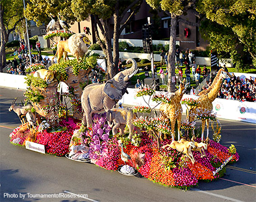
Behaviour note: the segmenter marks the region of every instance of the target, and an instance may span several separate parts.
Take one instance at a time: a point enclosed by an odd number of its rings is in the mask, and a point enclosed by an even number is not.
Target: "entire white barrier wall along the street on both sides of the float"
[[[26,90],[27,85],[24,83],[25,76],[0,73],[0,86],[18,88],[21,90]],[[124,94],[123,98],[120,100],[124,104],[128,105],[143,105],[147,106],[142,97],[136,97],[136,89],[127,89],[129,94]],[[197,99],[197,96],[184,94],[183,98],[193,98]],[[145,100],[149,100],[149,96],[145,96]],[[156,102],[150,101],[150,106],[154,107]],[[159,105],[157,107],[159,109]],[[182,104],[183,112],[186,112],[185,105]],[[216,112],[217,117],[246,121],[251,123],[256,123],[256,103],[253,102],[239,102],[236,100],[218,99],[216,98],[213,102],[213,112]]]

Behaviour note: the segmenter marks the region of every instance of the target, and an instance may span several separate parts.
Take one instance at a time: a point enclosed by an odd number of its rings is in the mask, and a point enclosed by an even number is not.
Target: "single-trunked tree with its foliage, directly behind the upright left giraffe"
[[[175,51],[176,51],[176,27],[177,22],[184,22],[188,25],[198,26],[199,23],[193,23],[181,18],[187,11],[194,13],[199,19],[202,16],[195,10],[197,0],[146,0],[153,9],[161,9],[171,17],[170,42],[168,54],[168,92],[175,91]]]

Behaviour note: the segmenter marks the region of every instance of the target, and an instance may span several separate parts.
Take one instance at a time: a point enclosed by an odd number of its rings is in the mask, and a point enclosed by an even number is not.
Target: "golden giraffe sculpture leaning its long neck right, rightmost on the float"
[[[198,105],[196,107],[188,107],[189,122],[195,121],[195,117],[204,113],[211,112],[213,110],[212,102],[217,97],[220,86],[222,84],[223,78],[232,77],[228,72],[224,72],[224,69],[221,68],[217,73],[217,76],[214,78],[212,85],[207,89],[199,93],[200,97],[196,100]],[[207,126],[207,136],[209,136],[209,120],[202,119],[202,136],[204,138],[205,123]]]

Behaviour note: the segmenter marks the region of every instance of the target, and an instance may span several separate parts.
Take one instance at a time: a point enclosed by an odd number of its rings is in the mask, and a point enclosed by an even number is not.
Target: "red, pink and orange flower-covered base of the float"
[[[107,125],[106,113],[93,116],[92,128],[86,128],[69,118],[69,121],[60,121],[59,131],[49,131],[48,128],[39,132],[37,128],[35,133],[31,133],[28,126],[24,125],[17,127],[10,134],[10,138],[12,143],[23,146],[25,140],[43,144],[46,153],[57,156],[69,153],[72,145],[84,144],[89,147],[88,154],[92,163],[114,171],[124,164],[121,160],[118,138],[111,135],[111,128]],[[201,139],[195,141],[200,142]],[[161,146],[165,144],[171,144],[171,140],[161,142]],[[239,159],[234,149],[228,149],[209,140],[205,157],[200,157],[199,152],[192,152],[195,158],[195,163],[192,164],[186,155],[175,149],[159,149],[157,141],[152,140],[150,134],[146,132],[136,140],[123,141],[123,145],[124,153],[131,158],[130,166],[145,178],[182,189],[196,185],[198,180],[212,181],[219,178],[224,170],[219,171],[218,168],[228,158],[231,158],[230,162]]]

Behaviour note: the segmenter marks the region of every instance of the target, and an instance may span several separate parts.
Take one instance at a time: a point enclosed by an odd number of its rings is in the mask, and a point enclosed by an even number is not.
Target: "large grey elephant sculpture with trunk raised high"
[[[83,90],[81,104],[84,110],[82,123],[90,127],[93,125],[92,113],[112,109],[125,94],[128,81],[138,71],[137,63],[129,58],[132,67],[119,72],[105,84],[90,84]]]

